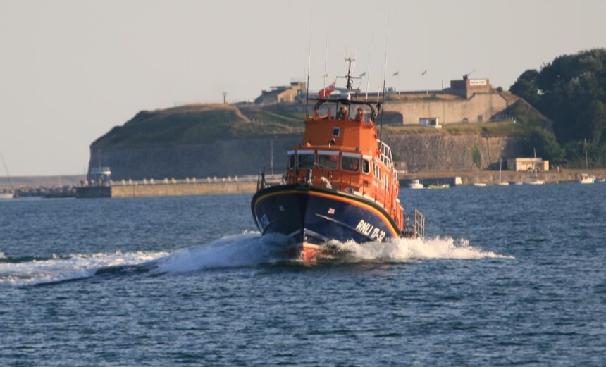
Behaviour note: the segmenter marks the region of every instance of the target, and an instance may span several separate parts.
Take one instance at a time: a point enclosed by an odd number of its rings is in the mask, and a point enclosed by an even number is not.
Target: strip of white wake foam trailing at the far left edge
[[[135,266],[167,254],[167,252],[144,251],[123,254],[116,251],[113,254],[73,254],[64,257],[54,255],[51,259],[42,261],[0,263],[0,287],[39,285],[89,278],[103,268]]]

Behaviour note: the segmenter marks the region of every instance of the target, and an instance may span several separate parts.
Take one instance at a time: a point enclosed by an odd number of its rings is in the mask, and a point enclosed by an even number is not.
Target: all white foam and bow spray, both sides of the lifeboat
[[[140,266],[152,273],[187,273],[211,268],[235,268],[288,261],[285,257],[287,237],[258,232],[223,237],[219,240],[173,254],[168,252],[116,251],[113,254],[74,254],[49,259],[0,262],[0,287],[37,285],[89,278],[111,273],[124,266]],[[338,262],[364,261],[406,262],[428,259],[513,259],[473,247],[466,240],[435,237],[425,240],[397,239],[391,242],[330,242],[338,249]],[[4,255],[4,254],[3,254]],[[6,256],[5,256],[5,259]],[[10,260],[10,259],[9,259]],[[330,261],[330,259],[326,259]],[[292,261],[292,260],[290,260]],[[294,262],[299,262],[295,260]]]

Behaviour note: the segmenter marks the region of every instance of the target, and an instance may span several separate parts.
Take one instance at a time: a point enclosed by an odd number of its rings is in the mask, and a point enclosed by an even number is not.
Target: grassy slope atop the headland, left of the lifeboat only
[[[303,116],[276,108],[229,104],[196,104],[141,111],[123,126],[113,127],[95,147],[142,144],[205,144],[216,139],[303,132]]]

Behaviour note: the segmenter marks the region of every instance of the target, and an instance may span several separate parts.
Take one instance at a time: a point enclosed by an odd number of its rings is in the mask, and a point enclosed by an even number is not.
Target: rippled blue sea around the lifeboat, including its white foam
[[[605,366],[605,197],[403,189],[426,241],[313,267],[249,195],[0,201],[0,366]]]

